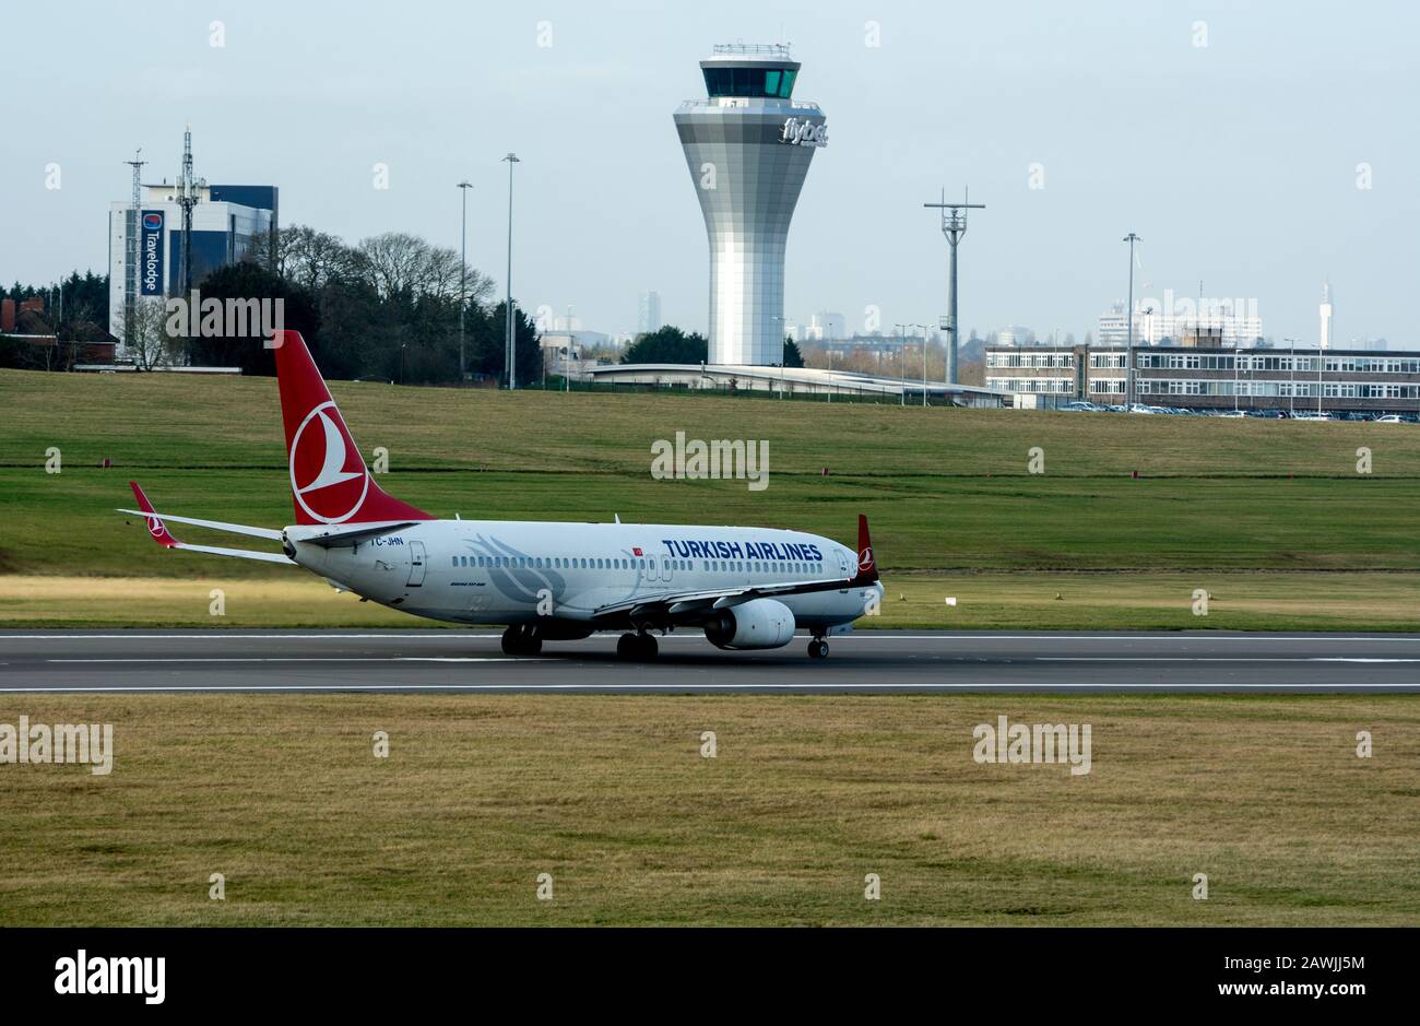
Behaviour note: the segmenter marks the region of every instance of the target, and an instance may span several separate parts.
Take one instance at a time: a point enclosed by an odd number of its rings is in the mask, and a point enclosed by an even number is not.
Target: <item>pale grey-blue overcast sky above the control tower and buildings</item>
[[[273,183],[283,223],[406,230],[514,293],[629,331],[638,293],[706,327],[706,240],[672,124],[714,43],[792,43],[822,105],[785,314],[936,323],[947,246],[924,200],[987,205],[961,244],[963,328],[1083,337],[1126,288],[1255,300],[1264,331],[1416,331],[1420,14],[1399,3],[14,4],[0,58],[0,280],[108,266],[106,209],[172,179]],[[224,45],[213,47],[222,21]],[[548,40],[550,34],[550,40]],[[540,45],[550,41],[551,45]],[[872,45],[878,43],[878,45]],[[1206,43],[1206,45],[1198,45]],[[58,163],[60,189],[45,188]],[[389,188],[372,166],[389,165]],[[1032,189],[1032,165],[1044,188]],[[1367,165],[1358,171],[1358,165]],[[1370,188],[1358,188],[1358,180]]]

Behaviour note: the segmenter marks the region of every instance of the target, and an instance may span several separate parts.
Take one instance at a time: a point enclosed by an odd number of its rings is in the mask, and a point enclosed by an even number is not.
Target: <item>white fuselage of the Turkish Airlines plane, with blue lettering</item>
[[[882,584],[848,587],[851,549],[816,534],[754,527],[427,520],[355,546],[324,549],[288,527],[295,561],[358,595],[464,624],[584,622],[667,595],[841,581],[774,595],[795,625],[832,631],[862,617]]]

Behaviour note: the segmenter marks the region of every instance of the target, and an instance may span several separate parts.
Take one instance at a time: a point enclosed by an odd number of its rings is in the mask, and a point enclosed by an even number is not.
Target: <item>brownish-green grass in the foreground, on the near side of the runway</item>
[[[1403,698],[0,699],[21,712],[114,723],[115,762],[0,767],[0,925],[1420,921]],[[977,765],[998,715],[1091,723],[1091,773]]]

